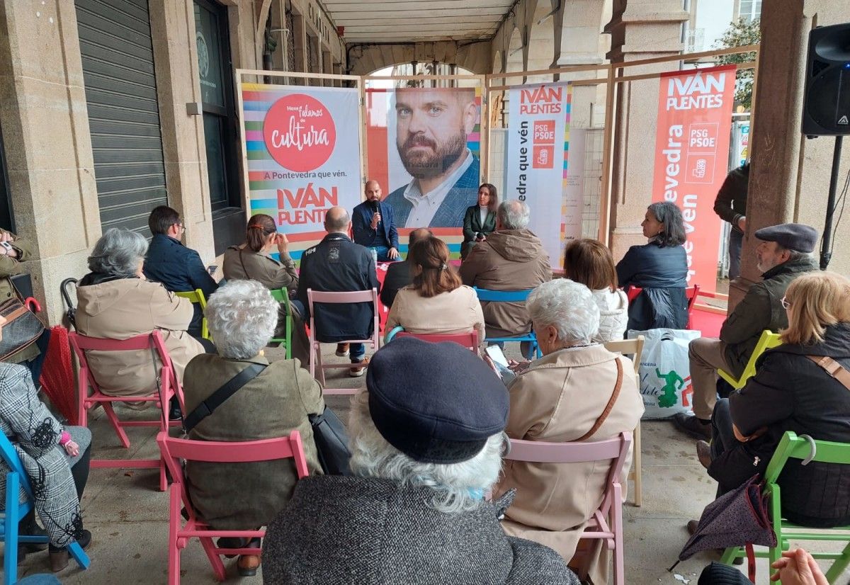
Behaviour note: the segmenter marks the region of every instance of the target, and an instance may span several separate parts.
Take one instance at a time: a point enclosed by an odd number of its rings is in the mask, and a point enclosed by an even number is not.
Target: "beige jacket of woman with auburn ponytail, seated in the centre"
[[[401,326],[411,333],[478,332],[484,341],[484,314],[478,296],[470,287],[457,287],[449,293],[425,298],[413,287],[405,287],[395,295],[384,331]]]

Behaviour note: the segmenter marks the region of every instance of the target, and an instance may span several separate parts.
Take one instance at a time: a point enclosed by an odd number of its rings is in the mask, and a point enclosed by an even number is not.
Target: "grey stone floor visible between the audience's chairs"
[[[327,360],[340,360],[326,346]],[[508,348],[508,355],[516,352]],[[270,355],[270,357],[273,357]],[[513,355],[516,357],[516,355]],[[344,371],[329,374],[328,385],[360,386],[364,378],[348,378]],[[343,420],[348,417],[348,397],[328,397],[327,404]],[[138,416],[138,415],[135,415]],[[117,447],[115,435],[98,417],[91,423],[97,457],[126,457]],[[156,443],[151,429],[130,429],[133,455],[153,457]],[[157,491],[157,474],[152,470],[93,469],[83,497],[86,527],[94,540],[88,550],[92,559],[88,571],[79,571],[71,563],[59,578],[65,583],[164,583],[167,575],[167,493]],[[631,486],[630,486],[631,489]],[[717,554],[702,553],[684,561],[673,573],[673,564],[687,539],[684,525],[699,517],[715,491],[694,456],[692,440],[678,434],[664,421],[643,423],[643,507],[626,504],[626,582],[630,585],[686,583],[696,578],[702,567]],[[820,545],[824,547],[825,545]],[[826,548],[828,550],[834,548]],[[47,571],[47,553],[31,554],[20,566],[19,576]],[[235,560],[226,561],[229,582],[235,577]],[[197,541],[190,542],[183,553],[184,583],[216,582],[207,558]],[[678,575],[678,577],[677,577]],[[767,582],[767,565],[758,566],[758,582]],[[259,583],[259,577],[241,580]],[[847,582],[847,574],[839,581]]]

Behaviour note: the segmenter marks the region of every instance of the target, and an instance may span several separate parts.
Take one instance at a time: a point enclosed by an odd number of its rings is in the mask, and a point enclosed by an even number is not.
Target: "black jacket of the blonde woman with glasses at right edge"
[[[850,369],[850,323],[826,327],[822,344],[789,344],[768,349],[756,375],[729,396],[729,412],[740,432],[765,434],[740,448],[766,452],[767,465],[785,431],[818,440],[850,443],[850,391],[806,355],[828,355]],[[750,472],[754,473],[754,472]],[[779,475],[783,515],[802,525],[850,524],[850,465],[799,459]]]

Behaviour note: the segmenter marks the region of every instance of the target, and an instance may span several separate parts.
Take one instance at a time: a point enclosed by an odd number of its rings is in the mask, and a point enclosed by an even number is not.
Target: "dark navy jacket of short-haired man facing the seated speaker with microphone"
[[[328,234],[301,257],[297,298],[304,305],[304,321],[309,323],[307,289],[329,293],[380,290],[371,252],[340,233]],[[316,307],[316,339],[333,343],[347,339],[367,339],[375,315],[371,303],[330,304]]]

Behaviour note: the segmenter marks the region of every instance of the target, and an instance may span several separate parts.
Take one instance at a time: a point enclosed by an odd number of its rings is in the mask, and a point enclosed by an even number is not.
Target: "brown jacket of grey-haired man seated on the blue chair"
[[[530,230],[498,230],[473,247],[461,264],[468,287],[493,291],[536,288],[552,280],[549,256]],[[517,337],[531,331],[524,303],[482,303],[487,337]]]

